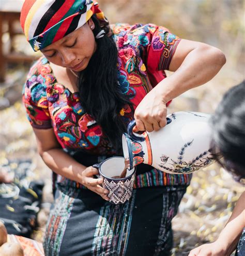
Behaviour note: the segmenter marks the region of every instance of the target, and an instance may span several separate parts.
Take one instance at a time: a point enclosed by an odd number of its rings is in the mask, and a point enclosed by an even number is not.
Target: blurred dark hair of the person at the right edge
[[[214,157],[237,178],[245,178],[245,80],[225,93],[211,121]]]

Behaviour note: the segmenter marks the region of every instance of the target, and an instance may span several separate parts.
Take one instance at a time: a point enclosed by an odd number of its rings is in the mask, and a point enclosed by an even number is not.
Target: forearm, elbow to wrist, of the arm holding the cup
[[[76,162],[62,149],[57,148],[44,151],[41,154],[41,158],[56,174],[82,183],[81,173],[86,169],[86,166]]]

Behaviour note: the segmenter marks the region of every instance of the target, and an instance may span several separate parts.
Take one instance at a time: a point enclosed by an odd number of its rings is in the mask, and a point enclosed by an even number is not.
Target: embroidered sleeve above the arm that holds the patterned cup
[[[22,99],[30,124],[36,129],[50,129],[52,123],[48,109],[47,86],[42,75],[30,71],[24,84]]]

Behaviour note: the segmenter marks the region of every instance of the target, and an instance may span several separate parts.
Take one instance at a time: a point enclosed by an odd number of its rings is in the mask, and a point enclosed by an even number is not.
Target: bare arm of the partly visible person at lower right
[[[189,256],[229,256],[236,249],[245,227],[245,192],[242,193],[219,238],[211,244],[191,250]]]

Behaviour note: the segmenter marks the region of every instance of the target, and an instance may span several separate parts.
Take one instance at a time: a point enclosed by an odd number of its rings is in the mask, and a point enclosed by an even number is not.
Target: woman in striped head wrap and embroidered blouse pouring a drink
[[[39,153],[56,174],[45,253],[169,255],[171,220],[191,175],[142,164],[130,201],[115,206],[91,166],[122,154],[133,118],[139,131],[163,127],[171,99],[215,76],[224,54],[154,24],[109,26],[89,0],[26,0],[21,24],[44,55],[23,100]]]

